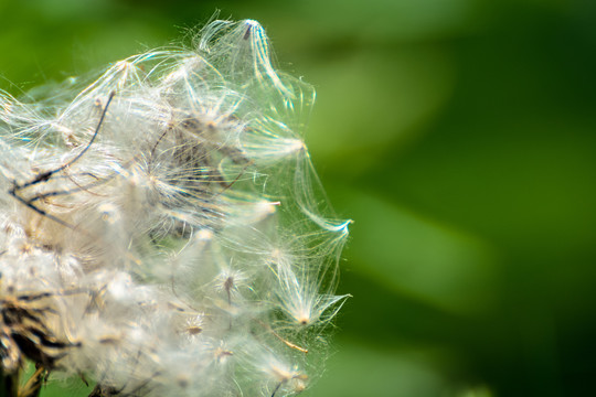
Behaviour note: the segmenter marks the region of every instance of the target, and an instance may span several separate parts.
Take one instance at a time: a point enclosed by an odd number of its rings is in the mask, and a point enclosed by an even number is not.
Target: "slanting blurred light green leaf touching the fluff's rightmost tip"
[[[372,195],[353,190],[342,195],[355,219],[354,270],[449,311],[490,308],[498,272],[496,253],[486,243]]]

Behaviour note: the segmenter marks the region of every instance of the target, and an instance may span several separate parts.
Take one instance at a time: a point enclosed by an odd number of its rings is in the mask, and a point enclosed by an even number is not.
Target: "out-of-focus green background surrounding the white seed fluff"
[[[215,9],[262,22],[317,87],[307,143],[355,221],[353,298],[305,395],[596,395],[596,1],[0,0],[0,87],[177,42]]]

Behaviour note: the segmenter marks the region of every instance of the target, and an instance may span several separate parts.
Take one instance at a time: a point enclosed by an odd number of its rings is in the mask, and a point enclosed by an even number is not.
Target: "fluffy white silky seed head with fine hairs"
[[[326,217],[301,138],[315,92],[255,21],[196,43],[68,101],[1,94],[0,373],[277,397],[320,373],[349,222]]]

